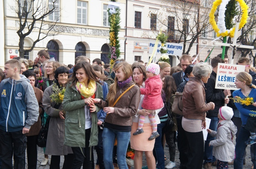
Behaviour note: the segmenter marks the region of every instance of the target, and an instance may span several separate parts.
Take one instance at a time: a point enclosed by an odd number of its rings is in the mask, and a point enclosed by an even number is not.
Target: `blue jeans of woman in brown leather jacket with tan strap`
[[[117,164],[120,169],[128,169],[126,163],[126,151],[130,141],[131,132],[116,131],[108,128],[103,129],[103,159],[105,169],[114,169],[113,148],[117,137]]]

